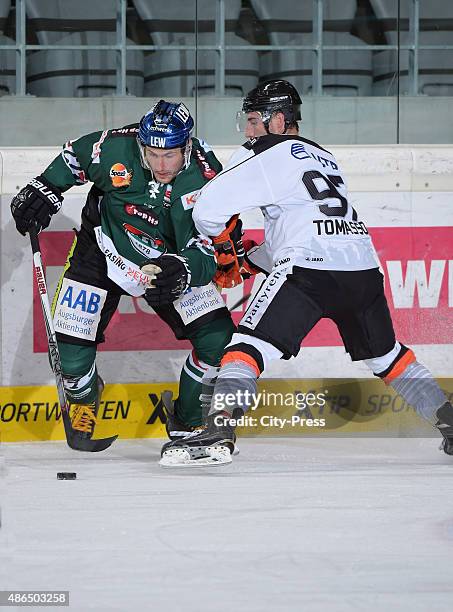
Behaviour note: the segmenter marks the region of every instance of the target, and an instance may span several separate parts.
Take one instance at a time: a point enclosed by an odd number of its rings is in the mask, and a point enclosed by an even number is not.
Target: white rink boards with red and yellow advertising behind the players
[[[331,150],[348,179],[350,201],[373,236],[398,338],[411,345],[436,376],[448,379],[453,372],[453,147],[335,146]],[[62,437],[61,426],[55,422],[56,393],[47,361],[30,248],[28,240],[16,233],[9,212],[12,195],[40,174],[58,152],[57,147],[0,150],[3,441]],[[224,147],[216,152],[226,161],[231,149]],[[53,218],[51,228],[41,234],[51,292],[73,239],[71,228],[79,224],[87,191],[84,186],[67,192],[62,211]],[[262,235],[260,214],[258,211],[245,218],[251,237],[256,239]],[[244,293],[256,289],[260,280],[226,292],[227,305],[231,307]],[[246,304],[233,313],[236,322],[245,307]],[[122,437],[163,435],[159,409],[150,396],[158,398],[164,388],[176,390],[175,381],[188,349],[189,344],[176,341],[144,300],[122,298],[98,356],[103,377],[116,383],[107,385],[99,429]],[[330,321],[316,326],[296,359],[272,364],[266,372],[270,379],[308,379],[301,380],[301,384],[322,375],[365,385],[367,397],[387,394],[379,381],[362,380],[370,376],[369,371],[363,364],[350,363]],[[372,410],[368,400],[360,404],[361,409]],[[342,427],[332,429],[343,435],[348,428],[365,432],[376,425],[375,431],[392,430],[404,435],[414,426],[422,435],[426,433],[418,419],[404,427],[398,425],[403,417],[411,420],[410,409],[406,412],[382,406],[378,418],[368,419],[369,422],[346,419]],[[391,419],[384,418],[387,413]],[[272,428],[261,429],[258,433],[265,435]],[[307,429],[303,435],[313,433]]]

